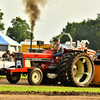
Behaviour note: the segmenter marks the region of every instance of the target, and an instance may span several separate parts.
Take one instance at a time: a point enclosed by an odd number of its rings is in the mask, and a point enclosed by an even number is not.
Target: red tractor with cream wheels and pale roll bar
[[[72,42],[69,33],[63,33],[60,39],[67,35],[70,42],[61,44],[64,48],[62,56],[54,58],[51,48],[43,53],[15,53],[15,66],[6,69],[7,80],[15,84],[21,74],[28,75],[31,85],[41,83],[70,86],[88,86],[94,77],[94,50],[87,49],[88,40]],[[40,41],[41,44],[41,41]]]

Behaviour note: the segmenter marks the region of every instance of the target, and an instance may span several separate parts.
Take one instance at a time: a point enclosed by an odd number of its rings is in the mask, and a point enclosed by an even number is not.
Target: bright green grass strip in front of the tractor
[[[75,91],[75,92],[100,92],[100,88],[80,88],[80,87],[60,87],[60,86],[0,86],[0,91],[40,91],[40,92],[50,92],[50,91]]]

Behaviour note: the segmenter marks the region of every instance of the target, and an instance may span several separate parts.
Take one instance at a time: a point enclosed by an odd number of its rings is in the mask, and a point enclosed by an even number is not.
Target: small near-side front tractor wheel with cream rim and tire
[[[42,82],[43,73],[39,68],[33,68],[29,71],[28,82],[31,85],[39,85]]]

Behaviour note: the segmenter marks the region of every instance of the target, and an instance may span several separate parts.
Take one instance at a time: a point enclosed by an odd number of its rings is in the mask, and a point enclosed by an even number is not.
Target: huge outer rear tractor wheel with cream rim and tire
[[[72,86],[88,86],[93,80],[94,63],[86,53],[73,56],[68,66],[68,77]]]

